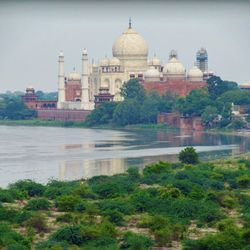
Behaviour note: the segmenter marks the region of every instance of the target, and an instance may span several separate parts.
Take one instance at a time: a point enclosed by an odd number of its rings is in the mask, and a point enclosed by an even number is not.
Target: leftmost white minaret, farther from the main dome
[[[61,51],[58,60],[58,101],[57,108],[62,109],[65,102],[65,83],[64,83],[64,55]]]

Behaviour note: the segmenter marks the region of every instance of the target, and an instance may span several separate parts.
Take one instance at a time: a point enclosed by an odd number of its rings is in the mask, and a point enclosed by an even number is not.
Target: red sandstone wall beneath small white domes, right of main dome
[[[206,82],[189,82],[187,80],[171,80],[166,82],[142,82],[147,92],[157,91],[159,95],[171,92],[178,96],[187,96],[193,89],[206,86]]]

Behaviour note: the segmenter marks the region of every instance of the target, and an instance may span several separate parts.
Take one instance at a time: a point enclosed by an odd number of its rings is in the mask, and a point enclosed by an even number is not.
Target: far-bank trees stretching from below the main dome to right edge
[[[122,102],[104,103],[95,109],[87,118],[88,126],[152,126],[161,112],[179,112],[186,117],[200,116],[207,128],[240,129],[248,121],[232,116],[232,103],[250,105],[250,93],[240,90],[237,83],[223,81],[217,76],[208,80],[207,87],[193,90],[185,98],[168,92],[163,96],[156,92],[147,94],[137,79],[124,83],[121,95],[124,98]]]

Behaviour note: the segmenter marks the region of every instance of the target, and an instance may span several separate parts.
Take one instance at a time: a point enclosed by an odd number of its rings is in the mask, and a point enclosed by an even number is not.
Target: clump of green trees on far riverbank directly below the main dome
[[[109,124],[126,126],[131,124],[156,124],[160,112],[170,112],[177,99],[171,93],[159,96],[156,92],[146,94],[137,79],[129,80],[121,88],[124,101],[103,103],[87,117],[88,126]]]

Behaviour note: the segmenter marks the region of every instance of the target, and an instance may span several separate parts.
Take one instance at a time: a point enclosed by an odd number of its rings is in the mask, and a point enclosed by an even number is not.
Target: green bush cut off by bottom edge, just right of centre
[[[153,241],[141,234],[127,232],[122,239],[121,249],[146,250],[151,249]]]

